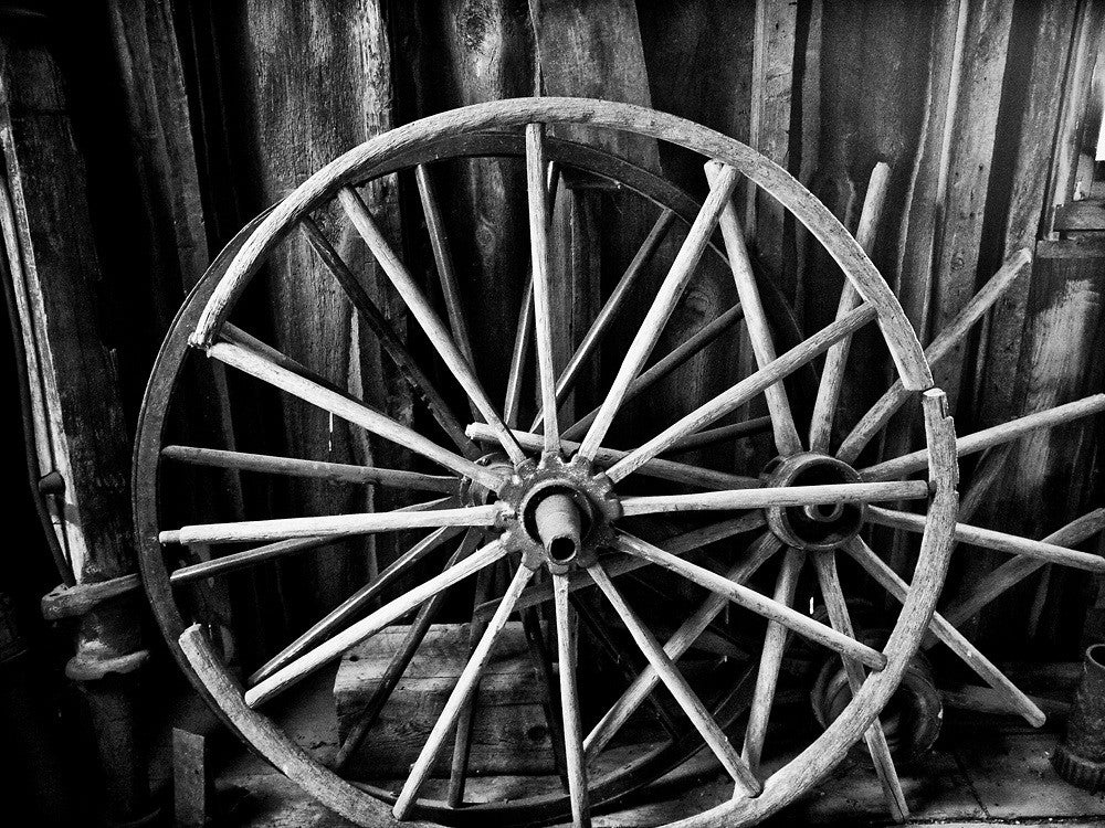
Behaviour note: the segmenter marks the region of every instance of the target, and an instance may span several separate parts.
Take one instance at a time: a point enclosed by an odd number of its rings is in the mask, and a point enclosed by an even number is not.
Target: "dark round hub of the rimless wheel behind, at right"
[[[779,457],[768,464],[762,477],[767,486],[823,486],[861,482],[859,473],[846,463],[823,454],[803,452]],[[794,549],[810,552],[835,549],[863,528],[863,503],[818,506],[772,506],[765,509],[771,531]]]

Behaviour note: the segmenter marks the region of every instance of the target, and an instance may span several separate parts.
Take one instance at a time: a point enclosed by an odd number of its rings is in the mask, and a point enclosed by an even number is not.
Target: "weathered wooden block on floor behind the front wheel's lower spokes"
[[[334,683],[343,739],[379,686],[406,633],[406,626],[389,627],[343,657]],[[469,646],[467,624],[434,624],[430,628],[380,718],[350,758],[347,768],[351,773],[366,778],[407,774],[464,669]],[[511,622],[480,681],[470,773],[543,774],[555,769],[540,699],[522,624]],[[434,775],[449,776],[451,755],[452,751],[441,751]]]

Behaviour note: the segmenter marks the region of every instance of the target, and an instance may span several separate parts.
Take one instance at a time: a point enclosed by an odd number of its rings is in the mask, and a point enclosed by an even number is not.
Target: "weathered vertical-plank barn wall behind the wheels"
[[[117,198],[105,184],[110,170],[118,179],[113,187],[143,205],[124,214],[135,232],[104,221],[97,231],[107,289],[127,297],[117,305],[141,315],[135,337],[113,342],[126,417],[136,420],[154,343],[183,291],[211,252],[252,215],[328,159],[391,126],[538,92],[648,104],[749,141],[787,166],[853,230],[872,168],[888,163],[888,206],[874,261],[927,342],[1008,254],[1039,240],[1059,241],[1049,232],[1050,219],[1077,176],[1101,7],[1097,0],[295,0],[277,9],[245,1],[113,0],[102,19],[85,13],[94,18],[88,31],[96,38],[83,41],[66,30],[75,23],[59,17],[56,42],[80,44],[62,62],[71,94],[95,92],[103,99],[102,107],[76,113],[90,198],[105,209]],[[81,54],[95,57],[91,77],[81,71]],[[95,91],[93,82],[99,84]],[[683,153],[642,142],[620,149],[688,191],[704,192],[701,168]],[[506,168],[455,174],[442,188],[453,235],[472,238],[466,227],[481,231],[480,247],[457,251],[472,295],[504,298],[471,308],[478,331],[474,346],[493,367],[488,385],[499,399],[495,378],[505,375],[503,342],[513,338],[520,298],[520,283],[509,274],[526,266],[526,246],[514,243],[525,236],[524,187]],[[380,182],[369,199],[425,276],[432,261],[411,182]],[[757,253],[797,317],[807,330],[822,326],[835,310],[841,274],[772,204],[747,206]],[[564,209],[575,211],[579,233],[609,226],[601,204],[582,199]],[[619,213],[618,222],[618,237],[644,232],[640,216]],[[1099,359],[1093,357],[1101,347],[1102,259],[1082,255],[1077,240],[1062,243],[1067,247],[1041,251],[980,332],[937,367],[961,431],[1044,400],[1103,389]],[[625,255],[603,251],[608,262]],[[390,302],[397,325],[409,329],[372,263],[362,258],[358,265],[370,274],[377,297]],[[572,266],[586,272],[588,265]],[[306,247],[290,250],[265,284],[269,314],[257,323],[275,342],[305,361],[322,360],[330,379],[352,382],[392,415],[413,416],[409,392]],[[705,284],[693,312],[677,319],[682,330],[732,301],[724,274]],[[571,314],[586,301],[594,297],[573,297],[562,310]],[[1064,340],[1063,353],[1046,355],[1049,342],[1075,329],[1081,333]],[[424,349],[419,335],[409,337],[412,348]],[[844,395],[845,424],[890,375],[878,343],[861,341]],[[732,376],[734,358],[747,362],[747,349],[745,355],[707,351],[692,363],[691,381],[673,384],[672,394],[697,399],[716,392]],[[204,412],[201,434],[248,445],[260,429],[282,433],[297,456],[325,448],[334,459],[401,460],[393,449],[340,425],[332,428],[305,408],[274,416],[245,407],[231,421],[218,414],[227,391],[215,385],[207,391],[215,413]],[[642,417],[644,427],[650,421]],[[1096,436],[1085,429],[1055,433],[1043,438],[1045,445],[1014,450],[1004,467],[1014,482],[989,507],[988,518],[1039,535],[1064,522],[1071,503],[1099,503]],[[901,418],[881,450],[905,450],[916,439],[915,421]],[[1048,500],[1041,509],[1040,492],[1054,492],[1056,480],[1070,498]],[[235,497],[231,491],[220,508],[231,514],[250,508]],[[352,491],[335,497],[304,487],[296,497],[312,511],[368,506]],[[352,554],[301,561],[283,573],[280,588],[309,599],[291,601],[298,615],[276,627],[260,625],[257,634],[280,637],[283,624],[294,628],[317,615],[393,554],[391,546],[362,544]],[[907,556],[896,562],[906,565]],[[953,572],[949,594],[969,588],[993,562],[972,554]],[[248,598],[256,587],[238,588]],[[1086,578],[1045,574],[988,609],[979,633],[1007,654],[1023,656],[1032,641],[1036,654],[1070,657],[1096,594]],[[1025,602],[1036,611],[1020,612]],[[243,616],[253,613],[249,601],[230,603]]]

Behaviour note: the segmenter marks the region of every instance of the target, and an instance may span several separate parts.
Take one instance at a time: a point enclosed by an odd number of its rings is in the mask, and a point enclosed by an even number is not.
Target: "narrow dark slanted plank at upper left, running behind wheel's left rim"
[[[154,310],[151,333],[156,341],[150,346],[156,347],[210,261],[191,113],[171,4],[164,0],[149,3],[113,0],[108,17],[115,67],[122,82],[128,149],[141,199],[140,209],[128,221],[145,225],[140,232],[130,226],[127,247],[148,266],[149,278],[136,286],[135,293],[148,300]],[[128,344],[138,355],[139,343]],[[140,354],[138,362],[145,371],[148,355]],[[190,362],[182,385],[188,391],[171,411],[172,432],[193,445],[236,448],[222,365]],[[197,482],[215,477],[218,486]],[[179,503],[179,516],[189,521],[244,517],[241,478],[235,471],[201,473],[199,478],[192,477],[172,491],[170,499]],[[255,586],[254,580],[246,584],[243,578],[238,583]],[[230,587],[227,581],[198,584],[196,597],[211,611],[212,620],[218,617],[230,624],[234,617],[256,616],[256,596],[252,590],[233,595]],[[249,638],[246,630],[248,627],[239,631]]]

